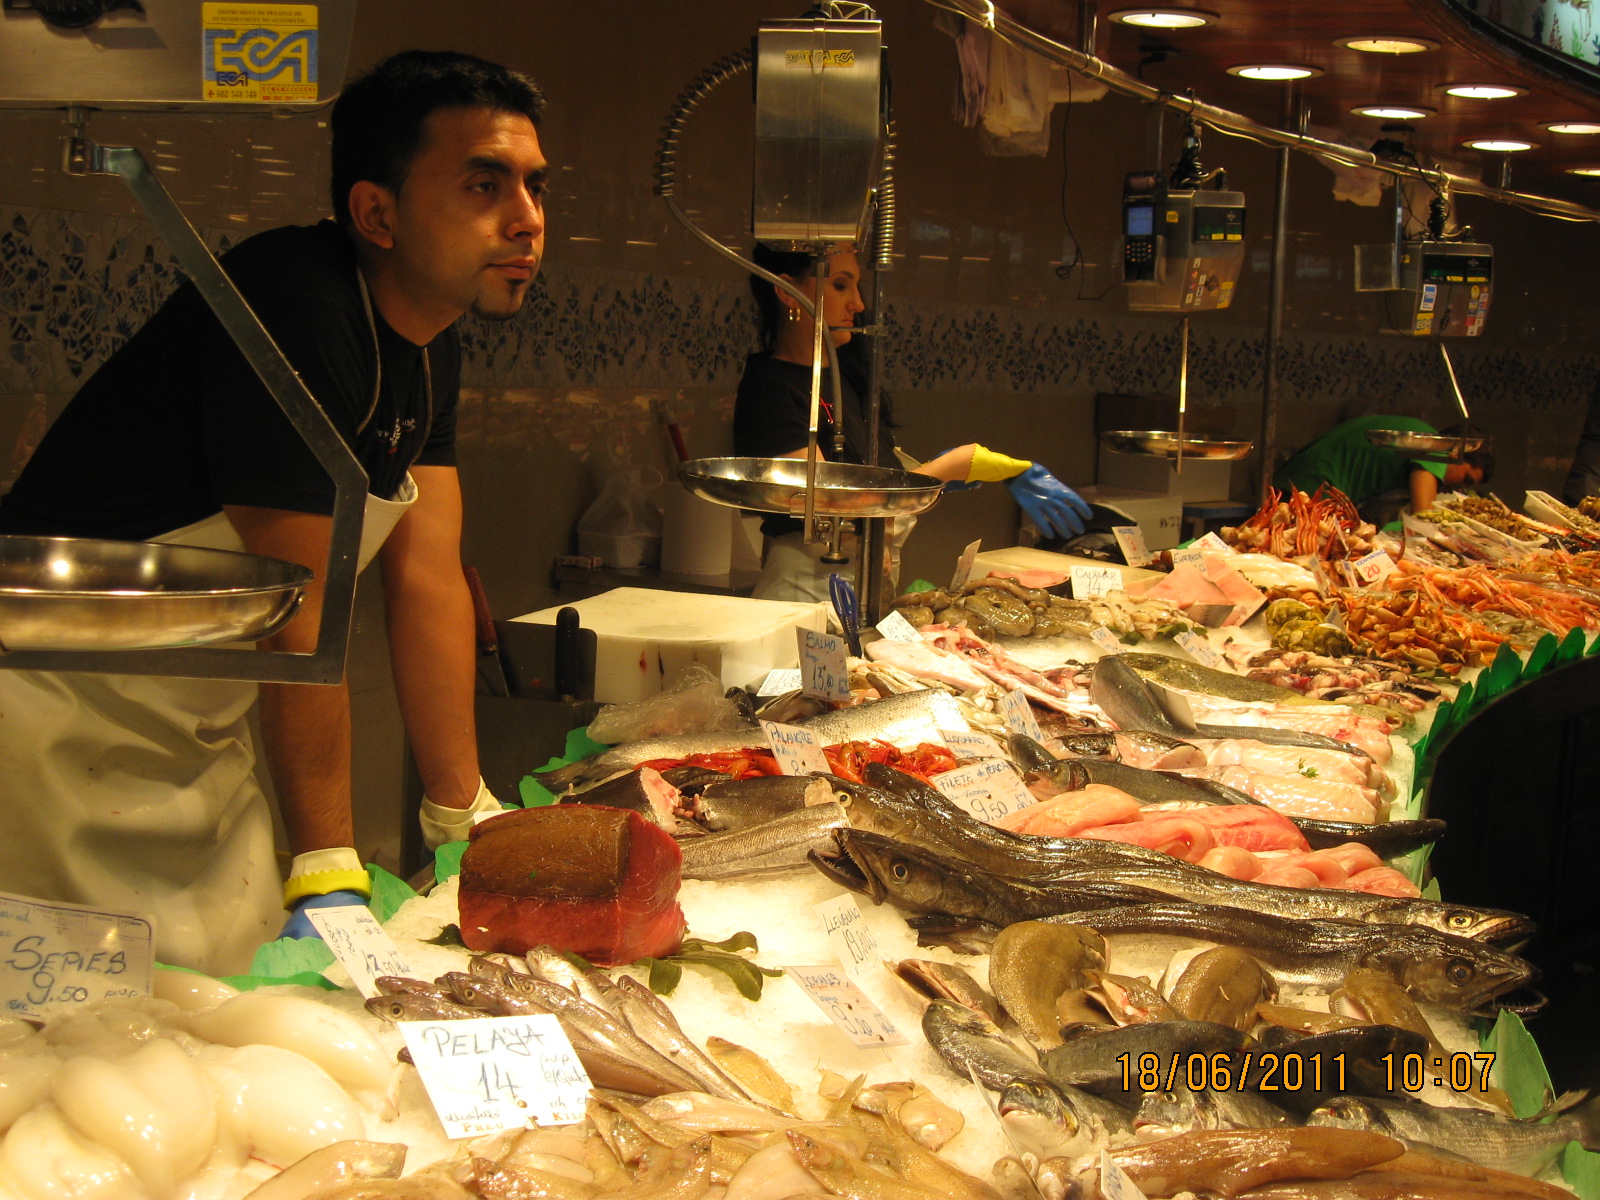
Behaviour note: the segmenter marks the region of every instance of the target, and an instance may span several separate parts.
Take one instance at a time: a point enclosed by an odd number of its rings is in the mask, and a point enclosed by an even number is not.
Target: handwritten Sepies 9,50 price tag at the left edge
[[[150,994],[150,922],[0,893],[0,1003],[6,1013]]]

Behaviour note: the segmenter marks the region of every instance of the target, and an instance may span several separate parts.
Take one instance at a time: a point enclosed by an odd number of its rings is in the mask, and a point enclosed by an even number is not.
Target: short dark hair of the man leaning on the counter
[[[398,192],[440,109],[520,112],[534,125],[544,94],[533,80],[450,50],[403,50],[350,83],[333,106],[333,216],[350,219],[362,179]]]

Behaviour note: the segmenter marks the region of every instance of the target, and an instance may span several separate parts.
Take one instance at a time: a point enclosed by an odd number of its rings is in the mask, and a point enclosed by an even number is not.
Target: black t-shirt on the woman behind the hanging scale
[[[845,403],[834,406],[832,374],[822,371],[824,408],[818,414],[818,446],[822,456],[834,458],[834,418],[845,426],[845,462],[867,461],[867,405],[861,394],[843,376]],[[811,414],[811,368],[774,358],[770,354],[752,354],[744,360],[739,392],[733,405],[733,453],[739,458],[781,458],[805,450]],[[878,464],[898,466],[894,443],[888,422],[878,429]],[[762,520],[762,533],[781,538],[803,528],[794,517],[768,515]]]

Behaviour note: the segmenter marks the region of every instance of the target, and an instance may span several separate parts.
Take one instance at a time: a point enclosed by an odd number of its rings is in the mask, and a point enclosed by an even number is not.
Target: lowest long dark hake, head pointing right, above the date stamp
[[[1538,976],[1534,966],[1517,955],[1419,925],[1286,920],[1182,901],[1094,909],[1048,920],[1088,925],[1107,938],[1168,934],[1238,946],[1272,968],[1280,982],[1312,984],[1328,992],[1354,968],[1373,966],[1389,973],[1411,997],[1466,1013],[1483,1010]]]

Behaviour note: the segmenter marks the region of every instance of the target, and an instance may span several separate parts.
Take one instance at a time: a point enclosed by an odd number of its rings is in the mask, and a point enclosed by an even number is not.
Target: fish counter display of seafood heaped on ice
[[[384,883],[387,973],[278,942],[250,990],[0,1029],[0,1200],[1600,1195],[1600,1101],[1518,1019],[1531,923],[1427,878],[1421,802],[1475,698],[1600,645],[1600,555],[1347,520],[901,597],[848,702],[766,725],[602,714],[677,725],[574,734]],[[446,1125],[422,1030],[531,1019],[579,1101]]]

